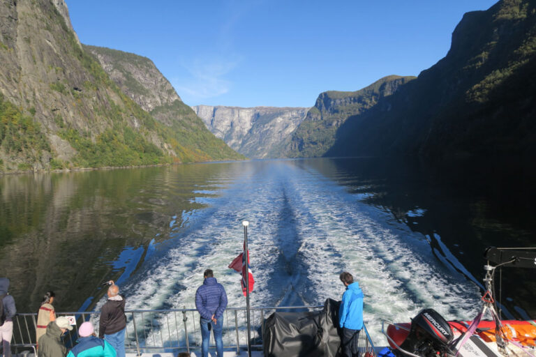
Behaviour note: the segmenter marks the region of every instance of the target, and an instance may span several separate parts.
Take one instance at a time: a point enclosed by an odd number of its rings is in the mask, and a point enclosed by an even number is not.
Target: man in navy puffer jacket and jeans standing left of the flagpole
[[[195,291],[195,308],[200,314],[201,325],[201,353],[203,357],[209,356],[210,330],[214,331],[216,352],[223,357],[223,311],[227,307],[227,294],[221,284],[218,284],[214,273],[207,269],[203,274],[203,284]]]

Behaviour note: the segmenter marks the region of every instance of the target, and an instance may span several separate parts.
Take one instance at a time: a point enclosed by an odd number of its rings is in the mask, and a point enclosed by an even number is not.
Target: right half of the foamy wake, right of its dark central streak
[[[292,206],[314,217],[299,221],[306,222],[301,227],[308,248],[304,252],[315,261],[311,273],[320,300],[341,296],[344,288],[336,273],[350,271],[364,290],[365,320],[373,340],[382,341],[378,319],[410,321],[425,307],[447,319],[474,317],[479,306],[477,287],[438,264],[424,236],[357,202],[333,183],[318,178],[304,187],[301,182],[294,185],[300,202]],[[335,252],[338,260],[333,259]],[[335,261],[343,267],[337,270]]]

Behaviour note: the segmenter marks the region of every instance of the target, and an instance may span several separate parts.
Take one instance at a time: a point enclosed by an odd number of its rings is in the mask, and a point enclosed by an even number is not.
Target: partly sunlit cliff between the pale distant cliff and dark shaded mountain
[[[289,157],[325,155],[335,143],[337,129],[352,115],[365,112],[381,98],[391,96],[403,84],[415,77],[391,75],[354,92],[327,91],[320,93],[315,106],[292,135]]]

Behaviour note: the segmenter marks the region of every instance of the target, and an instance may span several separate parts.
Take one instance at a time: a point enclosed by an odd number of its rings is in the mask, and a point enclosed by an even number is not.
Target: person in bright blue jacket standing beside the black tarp
[[[359,289],[359,283],[354,282],[352,274],[345,271],[339,276],[346,287],[343,301],[338,310],[338,324],[343,329],[341,344],[343,356],[357,356],[357,342],[359,331],[363,328],[363,291]]]

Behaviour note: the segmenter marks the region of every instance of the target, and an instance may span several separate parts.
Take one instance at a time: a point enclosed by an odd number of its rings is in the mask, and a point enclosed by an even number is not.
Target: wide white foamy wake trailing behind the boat
[[[239,275],[227,266],[241,250],[246,219],[256,280],[252,306],[275,305],[293,293],[290,286],[308,304],[338,300],[344,289],[338,274],[350,271],[364,290],[365,320],[375,341],[385,343],[379,319],[410,321],[425,307],[447,319],[472,318],[477,288],[435,259],[424,236],[299,166],[251,162],[234,176],[223,174],[225,186],[216,178],[211,186],[218,195],[202,199],[209,207],[192,212],[174,245],[151,255],[125,284],[128,309],[194,307],[205,268],[225,286],[230,307],[245,307]],[[281,226],[282,219],[289,227]],[[290,275],[278,265],[281,250],[297,251]]]

